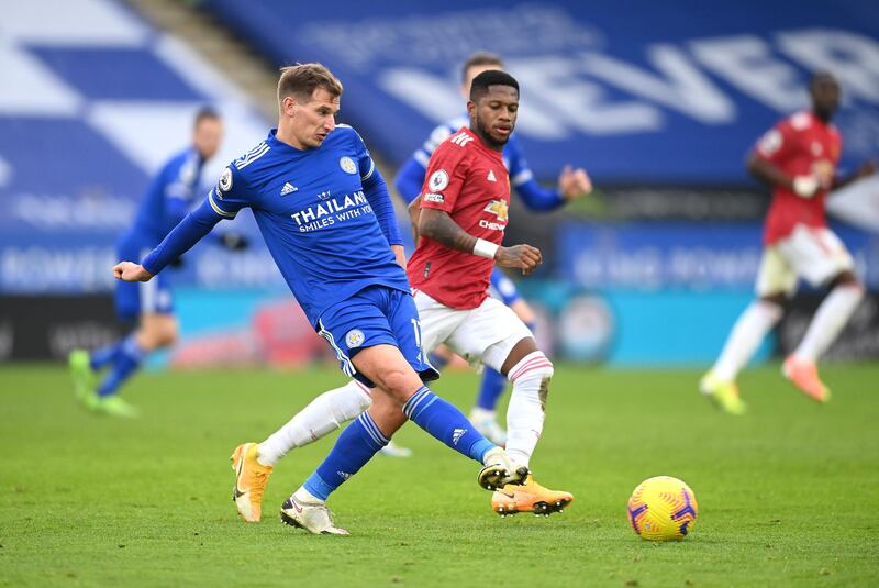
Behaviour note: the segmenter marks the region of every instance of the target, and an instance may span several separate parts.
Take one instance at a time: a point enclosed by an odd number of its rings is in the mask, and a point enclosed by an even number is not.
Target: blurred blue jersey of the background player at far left
[[[141,199],[130,238],[151,247],[165,238],[192,204],[202,167],[204,159],[191,146],[168,159]]]

